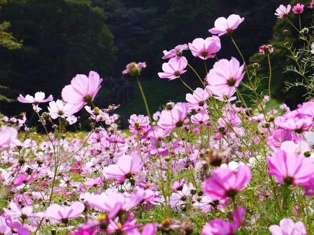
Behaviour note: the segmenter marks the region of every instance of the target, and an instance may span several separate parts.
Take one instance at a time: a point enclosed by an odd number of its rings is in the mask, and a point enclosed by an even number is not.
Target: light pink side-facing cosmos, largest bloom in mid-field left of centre
[[[141,171],[142,166],[142,159],[134,152],[132,155],[121,156],[116,164],[104,167],[102,173],[108,179],[132,179]]]

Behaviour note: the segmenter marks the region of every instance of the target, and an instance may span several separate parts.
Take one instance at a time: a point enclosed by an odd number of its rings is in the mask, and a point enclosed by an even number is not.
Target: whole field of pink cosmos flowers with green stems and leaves
[[[128,134],[117,124],[119,104],[93,105],[102,83],[96,71],[73,77],[62,100],[42,91],[20,94],[46,134],[34,132],[25,113],[1,118],[0,234],[314,234],[314,25],[289,20],[313,6],[314,0],[275,10],[303,41],[300,48],[283,45],[292,64],[286,70],[300,78],[286,85],[307,90],[295,110],[274,108],[276,48],[259,47],[267,77],[259,75],[260,64],[244,61],[232,37],[245,20],[237,14],[217,18],[213,35],[163,51],[167,62],[158,76],[191,90],[182,102],[150,112],[140,83],[146,63],[126,65],[122,74],[136,79],[146,108],[130,115]],[[222,36],[239,54],[216,55]],[[206,74],[188,63],[189,50]],[[207,68],[207,59],[216,62]],[[201,87],[182,80],[188,69]],[[260,92],[262,79],[268,87]],[[91,131],[64,132],[80,122],[75,113],[82,108]]]

